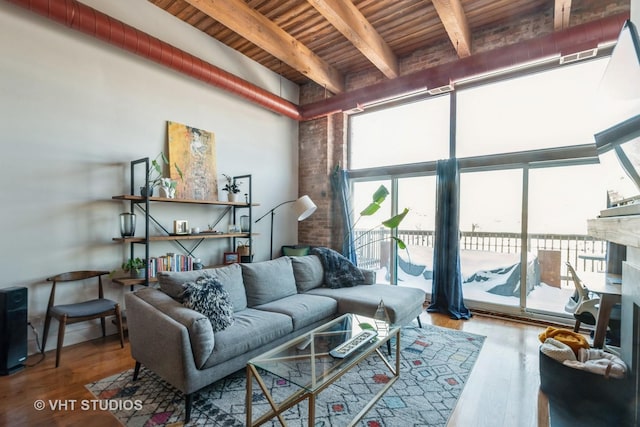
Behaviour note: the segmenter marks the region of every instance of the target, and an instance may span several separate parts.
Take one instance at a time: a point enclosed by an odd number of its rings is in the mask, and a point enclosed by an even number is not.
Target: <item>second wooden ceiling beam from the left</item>
[[[327,21],[342,33],[382,73],[390,79],[398,77],[398,59],[351,1],[307,0]]]

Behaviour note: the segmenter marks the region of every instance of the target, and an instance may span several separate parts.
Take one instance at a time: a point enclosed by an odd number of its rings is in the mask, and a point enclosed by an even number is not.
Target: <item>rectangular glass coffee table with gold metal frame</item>
[[[370,334],[360,343],[360,347],[345,356],[344,345],[340,351],[341,344],[358,336],[363,330],[375,331],[375,333]],[[259,426],[273,417],[278,417],[280,424],[286,426],[282,413],[307,399],[309,426],[314,426],[315,403],[318,394],[335,383],[351,368],[375,353],[391,371],[391,376],[389,381],[372,397],[349,425],[356,424],[400,376],[400,346],[396,345],[395,348],[395,364],[392,364],[381,351],[381,347],[385,344],[390,348],[388,342],[394,336],[396,343],[399,343],[399,326],[390,325],[383,320],[345,314],[251,359],[247,363],[246,425]],[[353,342],[354,340],[351,341],[351,343]],[[330,354],[332,350],[334,350],[335,356]],[[265,374],[285,379],[298,386],[299,389],[282,402],[276,403],[263,379]],[[271,406],[269,412],[256,420],[252,419],[254,378]]]

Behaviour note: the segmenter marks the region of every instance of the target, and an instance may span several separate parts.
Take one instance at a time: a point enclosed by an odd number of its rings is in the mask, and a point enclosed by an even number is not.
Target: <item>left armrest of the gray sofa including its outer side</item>
[[[162,357],[167,348],[163,345],[167,333],[166,328],[175,333],[186,332],[188,345],[182,352],[190,356],[197,368],[201,368],[213,351],[215,338],[209,319],[197,311],[184,307],[169,295],[153,288],[145,288],[131,294],[126,294],[127,326],[131,340],[131,352],[147,353],[150,342],[160,343]],[[133,305],[130,307],[130,305]],[[169,326],[171,325],[171,326]],[[175,369],[175,367],[174,367]]]

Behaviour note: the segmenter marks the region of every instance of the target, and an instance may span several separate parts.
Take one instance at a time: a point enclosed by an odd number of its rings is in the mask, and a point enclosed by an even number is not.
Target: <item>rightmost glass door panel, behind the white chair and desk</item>
[[[607,180],[599,164],[532,169],[529,176],[529,251],[540,278],[527,307],[566,315],[575,289],[566,263],[582,277],[606,267],[606,242],[587,235],[587,219],[606,207]]]

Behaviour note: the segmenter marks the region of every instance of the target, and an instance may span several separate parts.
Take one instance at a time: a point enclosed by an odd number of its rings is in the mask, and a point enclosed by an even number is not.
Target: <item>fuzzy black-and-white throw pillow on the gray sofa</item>
[[[233,324],[233,306],[229,294],[214,277],[201,277],[195,282],[187,282],[182,305],[207,316],[213,332],[222,331]]]

